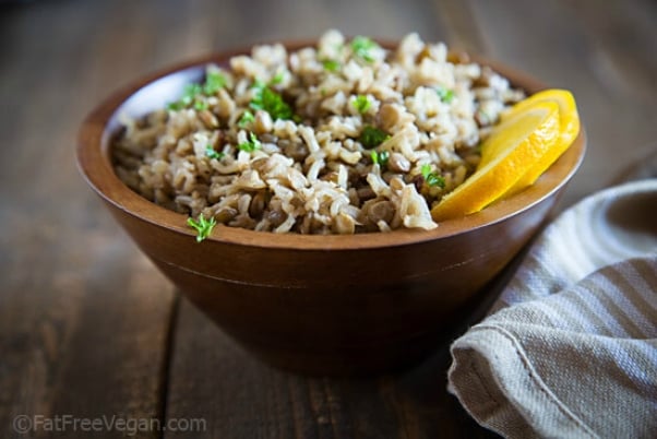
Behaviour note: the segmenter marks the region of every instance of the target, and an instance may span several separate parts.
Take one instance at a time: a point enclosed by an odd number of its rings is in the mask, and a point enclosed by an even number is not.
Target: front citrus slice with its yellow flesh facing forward
[[[509,117],[481,144],[481,162],[463,185],[431,210],[434,221],[478,212],[534,169],[560,139],[559,105],[536,102]]]

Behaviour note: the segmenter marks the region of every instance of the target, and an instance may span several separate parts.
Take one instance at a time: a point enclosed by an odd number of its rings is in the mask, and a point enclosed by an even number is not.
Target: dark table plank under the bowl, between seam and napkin
[[[194,434],[199,438],[494,437],[447,394],[447,366],[445,345],[399,375],[306,378],[251,357],[182,300],[167,417],[205,419],[206,429]]]

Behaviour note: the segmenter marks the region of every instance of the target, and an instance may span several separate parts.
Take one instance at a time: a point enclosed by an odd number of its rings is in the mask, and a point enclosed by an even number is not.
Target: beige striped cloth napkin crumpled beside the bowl
[[[561,214],[451,352],[450,392],[505,437],[657,438],[657,179]]]

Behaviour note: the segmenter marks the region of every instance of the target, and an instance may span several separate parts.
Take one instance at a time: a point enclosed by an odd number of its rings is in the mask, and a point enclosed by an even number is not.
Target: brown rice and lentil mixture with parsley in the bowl
[[[476,168],[507,80],[417,34],[386,50],[326,32],[255,46],[115,140],[117,175],[170,210],[255,230],[431,229],[431,206]]]

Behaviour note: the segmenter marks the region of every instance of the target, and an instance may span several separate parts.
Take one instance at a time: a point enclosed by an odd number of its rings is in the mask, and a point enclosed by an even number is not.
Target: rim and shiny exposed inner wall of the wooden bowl
[[[294,49],[300,46],[303,44],[288,45],[288,48]],[[236,50],[229,54],[213,55],[148,75],[115,93],[97,107],[83,123],[77,146],[82,174],[96,192],[107,202],[145,222],[193,237],[193,230],[186,225],[186,215],[152,203],[130,190],[117,177],[110,159],[110,142],[120,129],[120,118],[123,115],[139,117],[162,108],[179,97],[184,84],[202,80],[207,63],[225,64],[231,56],[243,52],[248,51]],[[475,60],[491,66],[506,76],[514,86],[524,88],[529,94],[545,88],[536,80],[504,66],[476,58]],[[582,129],[573,145],[535,185],[513,197],[489,205],[479,213],[441,222],[439,227],[429,232],[397,229],[386,234],[316,236],[273,234],[218,225],[215,228],[217,232],[208,239],[256,247],[310,250],[378,248],[440,239],[504,221],[550,197],[570,180],[583,159],[584,150],[585,134]]]

